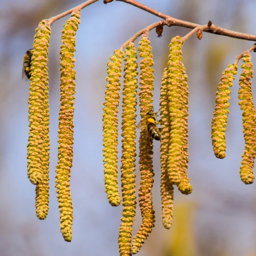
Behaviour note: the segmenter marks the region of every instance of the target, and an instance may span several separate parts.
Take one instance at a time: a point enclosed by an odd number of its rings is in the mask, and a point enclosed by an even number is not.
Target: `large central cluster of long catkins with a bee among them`
[[[169,45],[169,62],[161,86],[161,196],[163,225],[172,225],[174,185],[183,194],[192,192],[187,177],[188,168],[188,86],[182,60],[182,38],[175,37]],[[122,218],[119,229],[120,256],[138,253],[154,227],[155,212],[151,190],[153,186],[153,138],[147,130],[147,114],[153,108],[154,61],[149,38],[143,34],[139,42],[140,86],[139,107],[141,129],[139,137],[140,188],[139,203],[142,224],[132,240],[136,209],[135,160],[136,160],[136,105],[137,105],[137,53],[133,43],[125,52],[114,51],[108,62],[108,76],[103,108],[104,180],[107,198],[112,206],[122,201]],[[122,157],[121,190],[118,188],[118,111],[121,88],[122,61],[124,81],[122,90]]]

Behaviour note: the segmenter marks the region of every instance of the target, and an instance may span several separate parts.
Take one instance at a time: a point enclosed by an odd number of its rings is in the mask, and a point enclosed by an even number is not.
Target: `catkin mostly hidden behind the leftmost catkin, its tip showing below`
[[[36,215],[43,220],[47,217],[49,210],[49,86],[46,83],[44,98],[44,142],[42,150],[42,181],[35,188],[35,209]]]

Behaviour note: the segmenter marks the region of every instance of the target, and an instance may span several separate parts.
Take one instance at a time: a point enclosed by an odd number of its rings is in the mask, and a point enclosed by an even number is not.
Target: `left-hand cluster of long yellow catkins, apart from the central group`
[[[58,164],[55,187],[60,211],[61,233],[72,239],[73,206],[70,194],[70,170],[73,160],[73,113],[75,99],[74,52],[80,11],[74,11],[61,35],[61,84],[58,130]],[[49,210],[49,77],[48,48],[51,27],[47,20],[36,29],[32,50],[29,87],[28,177],[35,188],[35,207],[39,219]]]

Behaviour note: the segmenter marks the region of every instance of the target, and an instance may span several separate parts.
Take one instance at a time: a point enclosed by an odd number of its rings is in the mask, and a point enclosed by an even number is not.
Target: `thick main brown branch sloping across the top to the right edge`
[[[192,23],[192,22],[188,22],[185,20],[180,20],[180,19],[176,19],[174,17],[171,17],[169,15],[166,15],[162,12],[158,12],[148,6],[145,6],[142,3],[138,3],[135,0],[116,0],[116,1],[121,1],[124,3],[129,3],[133,6],[136,6],[137,8],[140,8],[146,12],[149,12],[153,15],[156,15],[160,18],[163,18],[164,20],[166,20],[166,25],[167,26],[182,26],[185,28],[189,28],[189,29],[195,29],[198,26],[202,26],[200,24],[196,24],[196,23]],[[245,34],[245,33],[241,33],[241,32],[236,32],[233,30],[229,30],[229,29],[223,29],[217,25],[211,25],[210,29],[205,29],[205,32],[208,33],[212,33],[212,34],[216,34],[216,35],[224,35],[224,36],[228,36],[231,38],[238,38],[238,39],[244,39],[244,40],[249,40],[249,41],[256,41],[256,35],[251,35],[251,34]]]

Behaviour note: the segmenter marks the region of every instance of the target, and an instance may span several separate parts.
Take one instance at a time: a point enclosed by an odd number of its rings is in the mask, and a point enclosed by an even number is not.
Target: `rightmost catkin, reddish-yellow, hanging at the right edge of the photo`
[[[253,167],[256,156],[256,111],[253,104],[251,79],[253,78],[253,64],[250,52],[246,52],[242,58],[243,71],[239,79],[239,105],[243,111],[244,154],[242,155],[240,176],[245,184],[251,184],[254,180]]]

